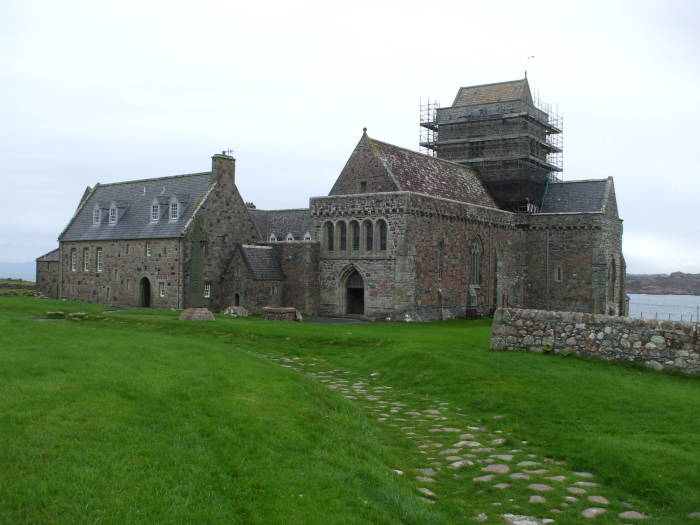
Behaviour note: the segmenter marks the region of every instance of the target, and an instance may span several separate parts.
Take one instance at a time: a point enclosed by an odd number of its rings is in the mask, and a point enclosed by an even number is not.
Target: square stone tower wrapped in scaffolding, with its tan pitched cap
[[[452,106],[421,100],[420,147],[476,169],[504,209],[539,209],[562,180],[563,118],[527,79],[460,88]]]

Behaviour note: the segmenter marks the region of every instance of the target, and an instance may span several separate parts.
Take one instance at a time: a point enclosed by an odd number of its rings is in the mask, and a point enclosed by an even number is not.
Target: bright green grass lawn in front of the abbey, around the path
[[[452,424],[595,473],[646,523],[700,511],[698,378],[490,352],[488,321],[193,323],[106,309],[0,297],[0,523],[463,523],[497,498],[486,523],[501,508],[537,515],[516,507],[520,489],[509,503],[458,473],[422,501],[411,471],[425,456],[401,424],[275,359],[342,369],[417,410],[446,403]],[[52,310],[91,318],[33,320]],[[574,507],[557,523],[579,523]]]

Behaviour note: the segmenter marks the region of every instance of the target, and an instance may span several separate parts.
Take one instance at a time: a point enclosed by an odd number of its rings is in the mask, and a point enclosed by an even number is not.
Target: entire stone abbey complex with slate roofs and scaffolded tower
[[[37,259],[46,295],[117,306],[433,320],[498,306],[626,313],[611,178],[561,182],[527,79],[461,88],[421,154],[363,133],[308,209],[246,204],[235,160],[85,191]]]

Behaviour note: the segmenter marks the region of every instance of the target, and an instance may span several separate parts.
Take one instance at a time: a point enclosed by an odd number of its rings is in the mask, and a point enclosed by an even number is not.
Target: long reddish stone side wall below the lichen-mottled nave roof
[[[521,304],[516,265],[519,232],[513,214],[411,195],[406,244],[414,257],[415,310],[425,320],[488,315]],[[472,250],[480,247],[480,278],[472,282]],[[440,253],[442,250],[442,255]]]

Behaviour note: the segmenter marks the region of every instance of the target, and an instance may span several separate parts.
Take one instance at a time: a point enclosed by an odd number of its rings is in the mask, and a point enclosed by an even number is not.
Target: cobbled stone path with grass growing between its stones
[[[323,361],[315,358],[268,358],[310,375],[364,407],[379,423],[414,441],[417,456],[423,456],[423,460],[412,469],[394,469],[394,473],[411,476],[426,503],[439,500],[441,486],[449,477],[467,485],[467,493],[497,493],[497,501],[467,516],[467,522],[500,518],[500,523],[511,525],[540,525],[558,519],[562,523],[587,523],[605,516],[608,522],[617,518],[624,524],[649,517],[628,503],[606,496],[594,474],[572,471],[563,461],[530,453],[526,441],[490,429],[480,421],[469,421],[468,414],[451,409],[449,403],[430,400],[427,408],[424,404],[416,406],[418,402],[410,395],[383,385],[379,372],[360,377],[339,368],[322,370]],[[541,507],[537,516],[507,512],[525,507],[532,514],[533,506]]]

